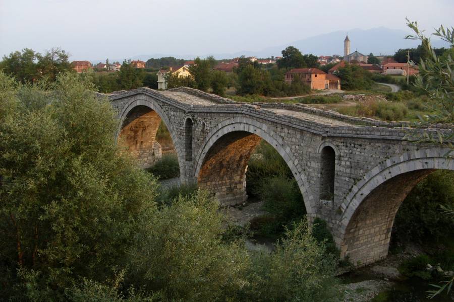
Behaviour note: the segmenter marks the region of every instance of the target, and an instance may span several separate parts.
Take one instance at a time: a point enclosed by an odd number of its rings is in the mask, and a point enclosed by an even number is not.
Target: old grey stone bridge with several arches
[[[142,167],[161,155],[155,137],[162,121],[181,180],[197,182],[222,204],[247,198],[247,162],[266,140],[292,170],[309,220],[325,219],[341,256],[356,265],[386,257],[394,216],[420,180],[436,169],[454,170],[447,149],[404,140],[405,122],[296,104],[238,103],[190,88],[107,97],[119,112],[119,141]]]

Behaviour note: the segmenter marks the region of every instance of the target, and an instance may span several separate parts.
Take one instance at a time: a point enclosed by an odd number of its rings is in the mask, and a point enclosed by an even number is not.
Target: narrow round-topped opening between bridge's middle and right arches
[[[320,199],[334,199],[334,170],[336,154],[330,146],[323,147],[320,155]]]

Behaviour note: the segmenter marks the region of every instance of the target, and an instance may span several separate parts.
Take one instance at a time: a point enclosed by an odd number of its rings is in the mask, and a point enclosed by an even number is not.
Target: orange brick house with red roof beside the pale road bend
[[[291,69],[286,72],[286,82],[292,83],[296,75],[311,89],[341,89],[341,79],[318,68]]]

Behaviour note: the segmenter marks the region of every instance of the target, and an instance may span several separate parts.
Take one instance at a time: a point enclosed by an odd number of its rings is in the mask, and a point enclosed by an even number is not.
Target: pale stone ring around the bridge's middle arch
[[[279,155],[285,160],[287,165],[289,166],[290,170],[292,171],[295,179],[298,182],[299,188],[304,198],[304,203],[306,207],[306,211],[309,217],[313,217],[315,215],[315,205],[314,205],[314,196],[312,191],[310,190],[309,183],[305,174],[302,172],[299,165],[299,161],[295,158],[295,156],[291,152],[290,146],[288,146],[283,139],[273,132],[266,124],[259,123],[258,121],[246,118],[246,117],[236,117],[229,120],[225,120],[219,123],[214,129],[212,129],[206,136],[205,141],[201,145],[195,159],[195,169],[194,169],[194,177],[196,179],[199,178],[202,166],[206,160],[207,155],[209,154],[210,149],[218,142],[218,140],[222,137],[226,137],[226,135],[238,133],[237,137],[231,137],[233,140],[240,140],[245,139],[247,134],[255,134],[260,139],[264,139],[270,145],[272,145]],[[256,141],[247,142],[247,146],[249,150],[252,150],[252,145],[255,146]],[[242,157],[247,157],[249,159],[249,154],[241,155]],[[246,161],[247,159],[242,158],[241,160]],[[246,171],[241,171],[244,174]]]

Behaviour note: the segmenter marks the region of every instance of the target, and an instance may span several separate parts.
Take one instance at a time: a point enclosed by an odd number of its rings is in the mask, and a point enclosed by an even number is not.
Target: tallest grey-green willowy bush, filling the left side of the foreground
[[[126,265],[137,217],[156,208],[155,180],[120,152],[117,113],[77,74],[48,86],[8,82],[0,72],[9,96],[0,99],[9,107],[0,116],[0,296],[19,267],[40,271],[37,286],[57,297],[78,276],[111,278]]]

